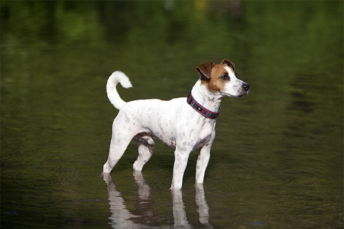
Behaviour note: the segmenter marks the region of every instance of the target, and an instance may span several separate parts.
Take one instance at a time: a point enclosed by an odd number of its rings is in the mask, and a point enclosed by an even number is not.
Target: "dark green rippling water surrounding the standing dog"
[[[1,2],[2,228],[343,227],[343,3]],[[134,173],[133,142],[100,175],[126,101],[186,97],[228,58],[250,94],[227,98],[204,186],[181,192],[173,149]]]

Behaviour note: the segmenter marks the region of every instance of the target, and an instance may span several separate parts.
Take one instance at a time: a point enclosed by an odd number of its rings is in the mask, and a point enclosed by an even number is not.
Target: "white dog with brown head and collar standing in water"
[[[249,84],[237,78],[235,64],[224,59],[220,64],[208,62],[197,66],[200,77],[187,98],[169,101],[159,99],[124,102],[116,85],[132,87],[121,71],[113,72],[106,84],[111,104],[119,110],[112,124],[108,160],[103,173],[110,173],[132,139],[139,146],[133,164],[141,171],[154,151],[155,140],[175,149],[171,190],[180,190],[191,151],[200,149],[196,163],[196,184],[203,184],[210,148],[215,138],[216,118],[224,97],[241,97],[249,92]]]

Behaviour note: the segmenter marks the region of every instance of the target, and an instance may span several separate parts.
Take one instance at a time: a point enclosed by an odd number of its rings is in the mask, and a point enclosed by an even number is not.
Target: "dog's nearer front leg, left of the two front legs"
[[[184,171],[186,169],[186,165],[188,164],[190,152],[191,150],[187,150],[186,148],[179,149],[176,147],[175,164],[173,166],[173,177],[170,188],[171,190],[182,189]]]

